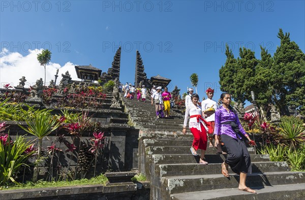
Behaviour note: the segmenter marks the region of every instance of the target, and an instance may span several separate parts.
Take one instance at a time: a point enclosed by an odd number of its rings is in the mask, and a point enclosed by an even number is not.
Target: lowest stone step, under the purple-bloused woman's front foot
[[[237,188],[216,189],[172,194],[172,200],[200,200],[200,199],[295,199],[305,198],[305,184],[288,184],[253,187],[257,194],[240,191]]]

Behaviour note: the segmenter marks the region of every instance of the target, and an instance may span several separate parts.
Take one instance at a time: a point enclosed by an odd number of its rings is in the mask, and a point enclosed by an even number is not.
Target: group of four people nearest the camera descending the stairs
[[[207,149],[207,139],[209,139],[210,146],[217,148],[218,154],[228,154],[226,160],[221,164],[222,174],[229,177],[228,165],[231,170],[240,176],[238,189],[246,192],[256,193],[255,190],[246,186],[247,174],[252,173],[252,165],[250,154],[245,144],[256,145],[249,135],[243,129],[237,116],[237,112],[233,109],[231,104],[231,94],[222,93],[220,101],[222,106],[212,100],[214,90],[207,88],[207,99],[202,101],[200,107],[198,105],[199,95],[194,93],[192,88],[189,89],[186,96],[186,113],[182,133],[187,132],[187,122],[189,120],[189,128],[194,136],[193,144],[190,148],[194,156],[198,156],[197,150],[201,150],[199,163],[207,165],[208,162],[204,160],[205,151]],[[214,108],[213,112],[204,112],[209,108]],[[215,139],[214,145],[212,139]],[[221,149],[221,142],[224,144],[227,153]]]

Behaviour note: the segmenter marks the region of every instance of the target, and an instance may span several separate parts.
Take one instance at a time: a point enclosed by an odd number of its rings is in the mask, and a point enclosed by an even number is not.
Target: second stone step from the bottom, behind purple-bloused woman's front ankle
[[[266,172],[247,175],[248,187],[262,187],[271,185],[305,183],[305,172]],[[215,190],[223,188],[236,188],[239,183],[239,175],[231,175],[229,178],[222,174],[172,176],[163,177],[162,184],[167,186],[169,194],[181,192],[193,192],[203,190]]]

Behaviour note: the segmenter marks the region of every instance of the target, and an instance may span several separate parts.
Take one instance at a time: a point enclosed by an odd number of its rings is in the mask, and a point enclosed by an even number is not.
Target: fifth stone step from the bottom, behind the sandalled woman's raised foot
[[[145,148],[147,154],[191,154],[191,145],[190,141],[189,146],[149,146]],[[250,154],[254,154],[254,148],[248,147]],[[201,150],[198,150],[197,153],[200,155]],[[205,154],[216,154],[217,149],[215,147],[207,147]]]

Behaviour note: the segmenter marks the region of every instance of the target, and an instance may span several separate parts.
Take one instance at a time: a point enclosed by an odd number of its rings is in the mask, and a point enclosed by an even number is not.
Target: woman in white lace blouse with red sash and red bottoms
[[[191,100],[192,103],[190,103],[186,109],[182,132],[183,134],[187,133],[187,122],[190,115],[189,128],[194,136],[191,152],[193,155],[197,156],[197,150],[201,149],[199,163],[208,164],[208,162],[203,160],[207,145],[207,127],[205,125],[205,120],[202,117],[201,107],[197,104],[199,101],[198,94],[192,94]]]

